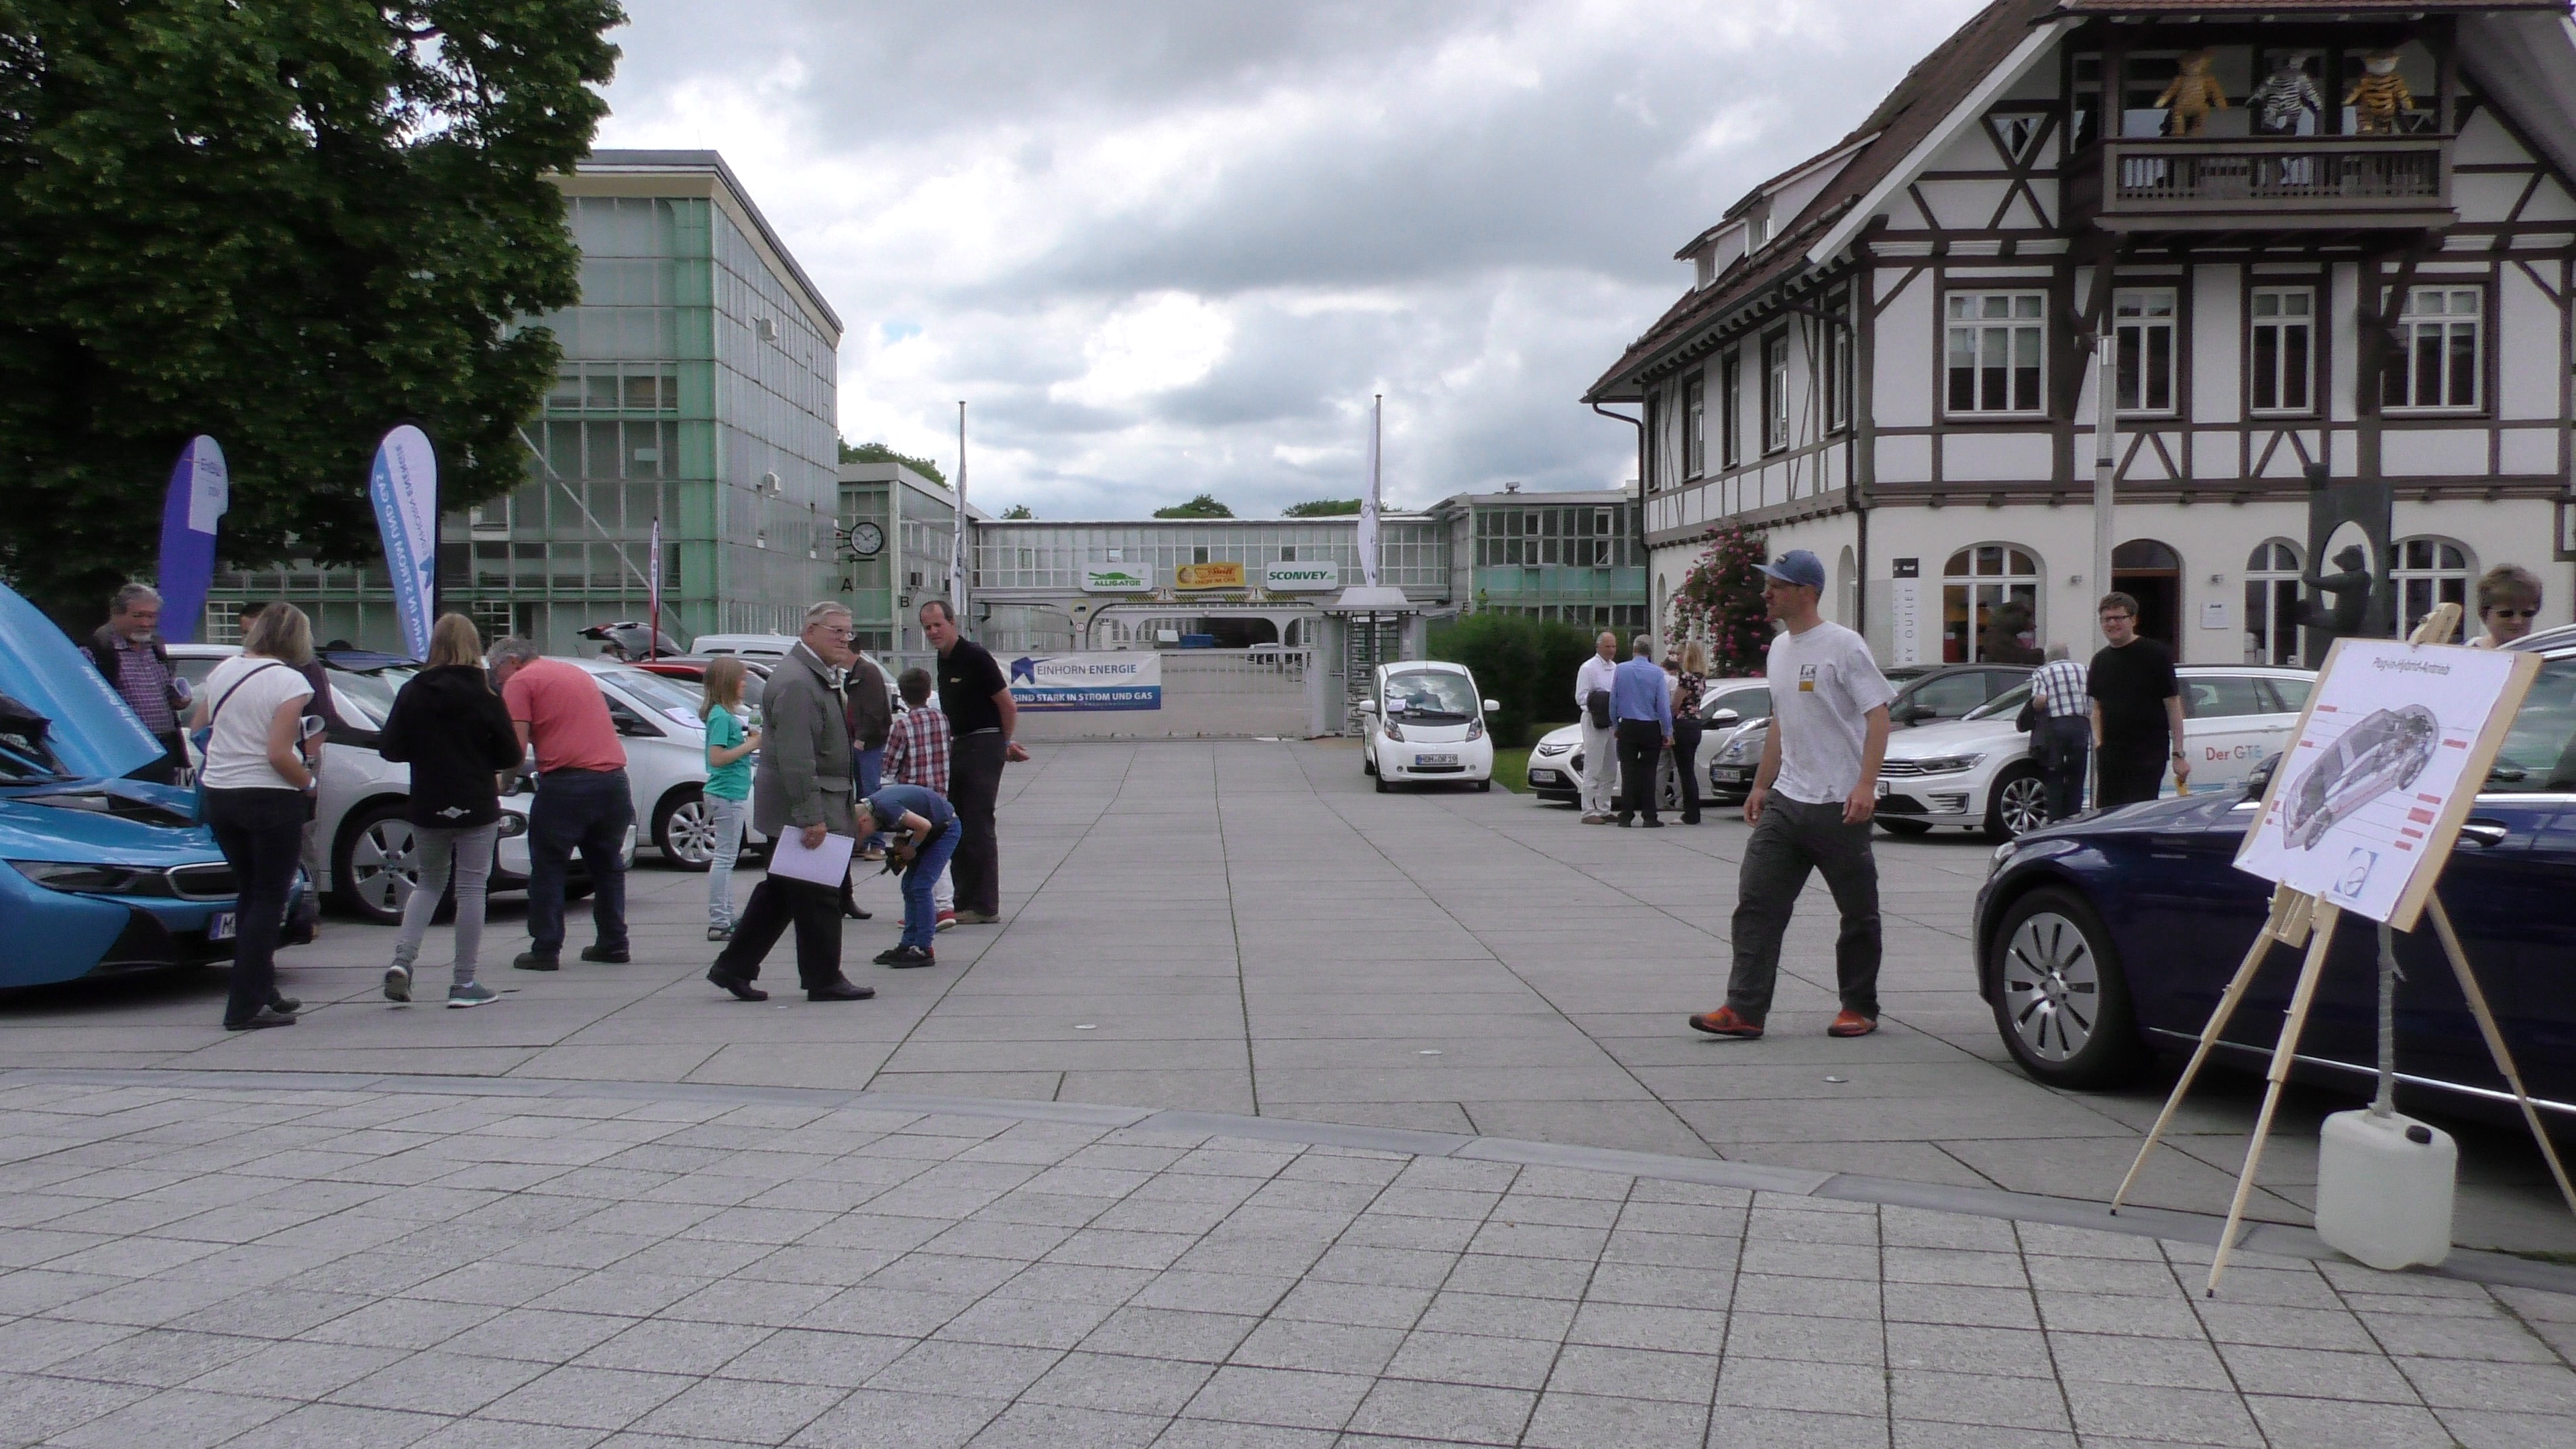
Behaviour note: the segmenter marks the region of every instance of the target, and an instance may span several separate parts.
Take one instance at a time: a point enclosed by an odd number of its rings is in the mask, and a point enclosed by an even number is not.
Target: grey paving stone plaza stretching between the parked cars
[[[2249,1078],[2107,1220],[2161,1085],[2004,1062],[1942,838],[1880,841],[1878,1036],[1821,1034],[1816,890],[1772,1034],[1698,1039],[1710,820],[1056,745],[1005,926],[853,964],[871,1003],[724,998],[654,864],[636,964],[484,1011],[386,1003],[345,920],[281,959],[291,1031],[214,980],[10,1000],[0,1444],[2576,1441],[2576,1222],[2512,1132],[2455,1124],[2470,1250],[2378,1274],[2306,1230],[2347,1101],[2293,1093],[2202,1297]]]

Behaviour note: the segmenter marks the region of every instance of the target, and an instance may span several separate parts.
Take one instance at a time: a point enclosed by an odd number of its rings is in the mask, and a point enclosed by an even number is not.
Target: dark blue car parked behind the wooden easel
[[[2553,1129],[2576,1129],[2576,629],[2517,647],[2545,657],[2439,895]],[[1999,846],[1976,900],[1978,993],[2004,1047],[2053,1085],[2136,1078],[2200,1039],[2262,928],[2272,887],[2233,869],[2269,768],[2246,792],[2159,799]],[[2370,1091],[2375,931],[2344,920],[2300,1034],[2306,1078]],[[2396,938],[2401,1085],[2512,1111],[2427,923]],[[2280,1036],[2298,951],[2275,949],[2221,1052],[2259,1062]]]

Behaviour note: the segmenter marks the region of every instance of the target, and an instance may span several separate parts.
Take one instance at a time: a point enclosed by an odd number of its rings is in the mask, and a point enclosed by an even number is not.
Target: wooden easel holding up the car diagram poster
[[[2442,642],[2458,627],[2460,606],[2445,603],[2434,608],[2421,627],[2416,627],[2409,642]],[[2300,724],[2306,724],[2306,719],[2300,719]],[[2287,768],[2287,761],[2280,768]],[[2450,957],[2452,975],[2460,977],[2460,995],[2468,1000],[2470,1016],[2478,1018],[2478,1034],[2486,1036],[2486,1049],[2496,1057],[2496,1070],[2501,1070],[2504,1080],[2514,1088],[2514,1104],[2522,1106],[2522,1119],[2532,1127],[2532,1140],[2540,1142],[2540,1155],[2548,1158],[2550,1176],[2558,1178],[2558,1191],[2566,1196],[2568,1212],[2576,1212],[2576,1183],[2568,1183],[2568,1171],[2558,1160],[2558,1147],[2550,1145],[2548,1129],[2540,1127],[2540,1111],[2532,1109],[2532,1093],[2522,1088],[2522,1073],[2514,1067],[2514,1055],[2504,1044],[2504,1031],[2496,1029],[2496,1013],[2488,1011],[2486,993],[2478,987],[2476,972],[2468,969],[2468,954],[2460,949],[2460,933],[2450,926],[2450,913],[2442,910],[2442,897],[2437,892],[2427,895],[2424,910],[2432,915],[2432,931],[2442,941],[2442,954]],[[2272,890],[2272,910],[2264,915],[2262,931],[2254,933],[2254,944],[2246,946],[2244,964],[2236,967],[2228,987],[2218,995],[2218,1006],[2210,1011],[2210,1024],[2200,1029],[2200,1044],[2192,1047],[2192,1060],[2182,1067],[2182,1080],[2177,1080],[2172,1096],[2164,1098],[2164,1111],[2156,1114],[2156,1124],[2146,1132],[2146,1142],[2138,1147],[2138,1160],[2128,1165],[2128,1176],[2120,1178],[2120,1191],[2110,1199],[2110,1209],[2117,1214],[2120,1204],[2128,1201],[2128,1189],[2138,1183],[2138,1171],[2146,1168],[2146,1158],[2156,1150],[2164,1129],[2172,1127],[2174,1111],[2182,1109],[2182,1096],[2192,1091],[2192,1078],[2197,1078],[2200,1065],[2210,1060],[2218,1034],[2226,1031],[2228,1018],[2236,1016],[2236,1006],[2244,1000],[2246,987],[2254,985],[2254,972],[2262,969],[2272,946],[2298,949],[2306,944],[2308,954],[2298,964],[2298,985],[2290,990],[2290,1008],[2282,1016],[2280,1042],[2272,1047],[2272,1067],[2264,1073],[2262,1111],[2254,1116],[2254,1137],[2246,1142],[2246,1163],[2236,1173],[2236,1196],[2228,1201],[2228,1222],[2218,1232],[2218,1250],[2210,1253],[2208,1297],[2218,1294],[2218,1276],[2228,1271],[2228,1253],[2236,1245],[2236,1230],[2244,1225],[2246,1199],[2254,1196],[2254,1168],[2262,1165],[2262,1150],[2272,1134],[2272,1114],[2280,1109],[2280,1088],[2290,1080],[2290,1065],[2298,1057],[2298,1034],[2308,1024],[2308,1006],[2316,1000],[2316,982],[2326,969],[2326,946],[2334,941],[2334,926],[2342,915],[2339,905],[2321,902],[2303,890]]]

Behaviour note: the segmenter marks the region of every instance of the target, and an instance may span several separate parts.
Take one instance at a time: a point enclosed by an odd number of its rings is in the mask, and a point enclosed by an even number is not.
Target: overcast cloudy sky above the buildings
[[[603,147],[721,150],[848,327],[840,428],[974,503],[1615,487],[1577,397],[1674,248],[1976,0],[626,0]]]

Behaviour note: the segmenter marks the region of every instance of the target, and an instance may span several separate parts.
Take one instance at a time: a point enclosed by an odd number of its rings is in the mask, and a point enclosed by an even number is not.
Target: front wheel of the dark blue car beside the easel
[[[2138,1075],[2146,1042],[2128,975],[2092,905],[2066,890],[2035,890],[2012,902],[1986,951],[1994,1024],[2025,1073],[2063,1088]]]

